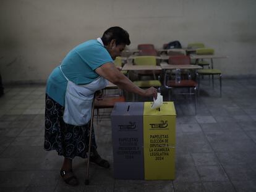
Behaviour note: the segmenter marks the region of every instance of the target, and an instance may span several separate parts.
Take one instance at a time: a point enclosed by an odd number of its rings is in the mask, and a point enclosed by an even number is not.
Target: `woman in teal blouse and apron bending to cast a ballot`
[[[45,100],[45,150],[56,150],[64,157],[61,177],[69,185],[79,184],[72,172],[72,159],[75,156],[87,158],[93,95],[107,85],[106,80],[123,90],[156,98],[155,88],[142,90],[113,64],[129,44],[126,30],[111,27],[101,38],[72,49],[49,75]],[[96,151],[93,130],[91,149],[91,162],[108,168],[108,161]]]

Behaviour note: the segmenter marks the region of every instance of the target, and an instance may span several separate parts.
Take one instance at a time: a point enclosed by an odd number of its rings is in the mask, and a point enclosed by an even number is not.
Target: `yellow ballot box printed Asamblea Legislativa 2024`
[[[173,102],[151,109],[144,103],[143,152],[145,180],[174,180],[176,111]]]

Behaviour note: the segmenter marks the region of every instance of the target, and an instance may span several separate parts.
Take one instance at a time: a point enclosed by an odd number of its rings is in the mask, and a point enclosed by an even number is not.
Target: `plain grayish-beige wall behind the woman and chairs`
[[[67,52],[117,25],[139,43],[195,41],[229,59],[224,77],[256,75],[254,0],[1,0],[0,73],[4,83],[45,82]]]

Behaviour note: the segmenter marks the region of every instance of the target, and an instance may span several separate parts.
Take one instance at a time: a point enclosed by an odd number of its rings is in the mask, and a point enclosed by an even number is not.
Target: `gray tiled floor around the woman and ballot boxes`
[[[11,86],[0,98],[0,191],[256,191],[256,80],[203,81],[197,115],[193,102],[176,103],[176,179],[114,180],[109,111],[101,111],[95,131],[98,151],[111,169],[74,160],[77,187],[59,176],[62,157],[43,149],[45,86]],[[164,91],[166,92],[166,91]],[[166,93],[164,93],[166,94]],[[168,96],[164,96],[164,99]],[[105,115],[102,115],[105,114]],[[104,117],[104,118],[102,118]]]

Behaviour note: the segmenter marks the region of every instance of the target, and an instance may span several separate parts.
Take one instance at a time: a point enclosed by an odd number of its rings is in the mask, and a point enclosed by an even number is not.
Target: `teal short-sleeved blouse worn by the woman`
[[[99,77],[95,69],[113,62],[102,42],[89,40],[72,49],[61,63],[62,72],[77,85],[87,84]],[[67,80],[59,66],[49,75],[46,93],[61,106],[65,106]]]

